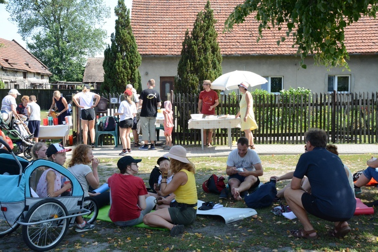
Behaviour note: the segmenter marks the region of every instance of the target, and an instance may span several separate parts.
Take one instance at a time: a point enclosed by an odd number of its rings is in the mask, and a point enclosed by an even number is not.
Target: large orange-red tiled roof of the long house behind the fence
[[[191,32],[197,14],[206,0],[133,0],[132,27],[141,55],[180,55],[186,29]],[[263,31],[257,42],[259,23],[249,15],[232,32],[222,33],[224,22],[242,0],[213,0],[211,8],[217,19],[218,42],[223,55],[285,55],[294,54],[292,40],[287,38],[277,46],[286,31]],[[283,29],[284,30],[284,29]],[[358,32],[357,32],[358,31]],[[345,30],[348,53],[378,52],[378,19],[361,19]]]

